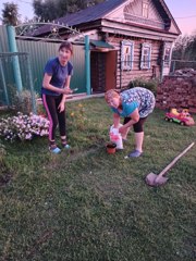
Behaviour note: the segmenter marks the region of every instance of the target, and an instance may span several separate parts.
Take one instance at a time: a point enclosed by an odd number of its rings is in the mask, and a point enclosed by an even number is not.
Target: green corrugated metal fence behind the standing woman
[[[40,88],[42,82],[44,67],[47,61],[58,55],[59,42],[46,42],[33,40],[16,40],[17,50],[20,53],[28,53],[32,69],[32,78],[34,90],[40,96]],[[86,92],[86,77],[85,77],[85,45],[73,44],[74,55],[71,60],[74,66],[74,74],[71,80],[71,88],[78,88],[77,94]],[[7,37],[5,26],[0,26],[0,53],[9,52],[9,42]],[[8,94],[11,92],[14,84],[13,67],[11,57],[1,55],[1,76],[0,76],[0,104],[5,104],[7,99],[4,94],[3,82],[5,83]],[[26,63],[24,55],[19,57],[22,84],[24,89],[29,88],[28,76],[26,73]]]

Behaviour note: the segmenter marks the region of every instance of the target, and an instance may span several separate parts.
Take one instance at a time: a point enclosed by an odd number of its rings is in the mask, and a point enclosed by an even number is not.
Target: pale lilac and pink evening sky
[[[22,20],[25,17],[33,18],[34,10],[33,0],[0,0],[0,17],[4,2],[14,2],[19,5],[19,14]],[[172,16],[175,18],[183,35],[189,35],[196,32],[196,0],[164,0]]]

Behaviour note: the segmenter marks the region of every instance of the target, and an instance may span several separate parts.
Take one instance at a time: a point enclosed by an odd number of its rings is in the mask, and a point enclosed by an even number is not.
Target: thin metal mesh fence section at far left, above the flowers
[[[14,63],[17,63],[15,72]],[[17,75],[16,75],[17,73]],[[16,76],[20,77],[22,89],[16,86]],[[15,97],[29,94],[32,111],[35,112],[35,94],[32,82],[29,55],[26,52],[0,53],[0,105],[14,105]]]

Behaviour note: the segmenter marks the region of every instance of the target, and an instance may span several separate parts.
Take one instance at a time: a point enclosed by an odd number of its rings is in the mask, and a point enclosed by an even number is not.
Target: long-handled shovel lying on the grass
[[[174,158],[174,160],[167,165],[160,173],[159,175],[156,175],[155,173],[149,173],[146,176],[146,183],[149,186],[152,187],[157,187],[157,186],[161,186],[164,185],[168,181],[168,177],[166,177],[167,172],[175,164],[175,162],[183,157],[193,146],[195,145],[195,142],[192,142],[186,149],[184,149],[177,157]]]

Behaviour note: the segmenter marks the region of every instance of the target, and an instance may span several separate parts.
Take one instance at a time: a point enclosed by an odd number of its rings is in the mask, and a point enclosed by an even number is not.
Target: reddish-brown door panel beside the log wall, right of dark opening
[[[117,87],[117,51],[106,53],[106,89]]]

